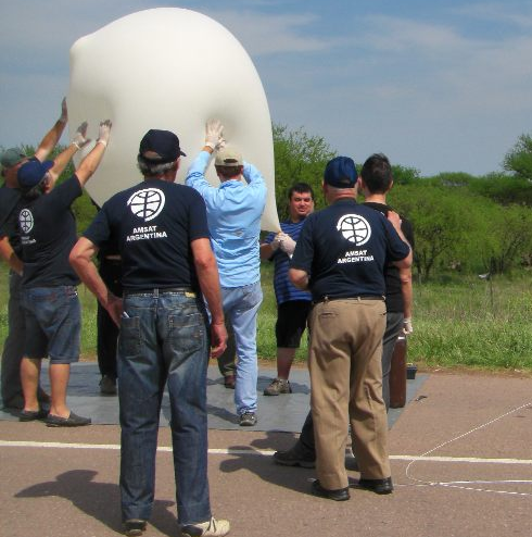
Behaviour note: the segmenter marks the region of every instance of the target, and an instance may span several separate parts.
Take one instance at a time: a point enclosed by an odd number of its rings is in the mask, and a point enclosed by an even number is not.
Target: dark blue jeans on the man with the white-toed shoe
[[[185,291],[125,294],[118,338],[123,520],[149,520],[155,486],[159,416],[165,384],[178,522],[211,517],[206,372],[210,341],[201,299]]]

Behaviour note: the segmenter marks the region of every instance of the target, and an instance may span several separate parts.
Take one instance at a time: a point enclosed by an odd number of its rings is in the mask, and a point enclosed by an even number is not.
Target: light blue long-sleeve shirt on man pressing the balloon
[[[258,236],[266,204],[266,184],[261,172],[244,162],[242,175],[248,185],[230,179],[213,187],[205,179],[210,158],[207,151],[201,151],[192,162],[185,183],[205,200],[220,286],[255,284],[261,279]]]

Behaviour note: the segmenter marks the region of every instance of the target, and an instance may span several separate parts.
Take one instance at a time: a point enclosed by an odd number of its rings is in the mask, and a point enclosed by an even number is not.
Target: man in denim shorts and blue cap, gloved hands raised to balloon
[[[30,160],[17,172],[22,191],[16,210],[24,272],[21,302],[25,310],[26,341],[21,362],[24,410],[20,420],[46,420],[50,427],[88,425],[66,405],[71,363],[79,359],[80,305],[76,286],[79,279],[68,263],[77,240],[76,221],[71,207],[96,172],[105,151],[111,123],[100,124],[94,148],[80,162],[76,173],[55,187],[55,182],[73,154],[89,142],[87,124],[54,161]],[[39,405],[37,389],[42,359],[50,357],[51,403],[49,412]]]

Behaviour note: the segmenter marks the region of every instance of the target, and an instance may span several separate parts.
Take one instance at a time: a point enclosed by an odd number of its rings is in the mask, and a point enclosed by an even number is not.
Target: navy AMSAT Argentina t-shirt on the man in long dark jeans
[[[199,290],[190,242],[210,235],[205,202],[190,187],[147,179],[107,200],[84,236],[118,245],[124,289]]]

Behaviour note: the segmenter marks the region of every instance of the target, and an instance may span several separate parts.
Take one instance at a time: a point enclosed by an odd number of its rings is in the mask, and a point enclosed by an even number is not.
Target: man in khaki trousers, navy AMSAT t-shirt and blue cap
[[[388,220],[355,201],[357,172],[347,157],[329,161],[324,193],[329,207],[307,216],[289,272],[292,283],[309,289],[311,407],[316,440],[312,491],[349,500],[344,467],[351,423],[360,480],[391,492],[388,421],[382,399],[382,336],[385,327],[384,265],[411,264],[400,218]]]

